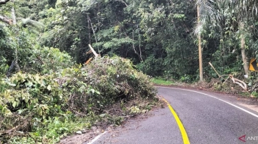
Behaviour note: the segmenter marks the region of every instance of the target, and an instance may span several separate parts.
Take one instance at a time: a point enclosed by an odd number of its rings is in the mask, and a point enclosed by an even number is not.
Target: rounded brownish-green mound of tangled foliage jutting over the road
[[[125,58],[97,58],[83,70],[88,74],[86,83],[100,92],[95,99],[100,107],[113,104],[117,99],[153,98],[156,94],[150,77],[133,69],[131,61]]]

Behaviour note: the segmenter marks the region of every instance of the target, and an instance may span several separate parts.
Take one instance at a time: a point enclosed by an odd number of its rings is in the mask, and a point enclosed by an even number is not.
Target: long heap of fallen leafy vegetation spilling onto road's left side
[[[68,133],[66,123],[76,120],[76,116],[105,114],[103,110],[121,99],[154,99],[156,91],[149,80],[133,69],[129,60],[118,57],[99,58],[87,67],[47,75],[16,73],[0,82],[0,140],[58,141],[58,134]],[[48,133],[53,121],[63,126]]]

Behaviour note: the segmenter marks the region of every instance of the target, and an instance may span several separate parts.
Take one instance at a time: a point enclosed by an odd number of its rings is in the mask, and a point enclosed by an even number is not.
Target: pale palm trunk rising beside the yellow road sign
[[[243,66],[244,66],[244,73],[248,74],[248,58],[246,57],[246,41],[244,36],[244,23],[240,22],[240,38],[241,38],[241,55],[243,60]]]

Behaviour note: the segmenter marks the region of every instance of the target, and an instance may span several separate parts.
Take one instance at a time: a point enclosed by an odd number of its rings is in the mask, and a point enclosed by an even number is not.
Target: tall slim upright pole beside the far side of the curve
[[[197,25],[200,27],[200,5],[197,4]],[[202,72],[202,39],[201,32],[198,32],[198,47],[199,47],[199,66],[200,66],[200,81],[204,79],[204,75]]]

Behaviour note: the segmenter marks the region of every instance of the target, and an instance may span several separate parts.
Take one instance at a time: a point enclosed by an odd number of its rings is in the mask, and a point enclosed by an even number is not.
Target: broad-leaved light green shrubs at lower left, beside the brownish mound
[[[85,108],[76,104],[88,104],[88,101],[81,97],[91,95],[93,89],[80,81],[82,73],[78,71],[80,69],[71,68],[52,75],[17,73],[10,79],[2,80],[0,141],[7,142],[17,135],[28,136],[27,132],[38,130],[40,134],[34,135],[35,141],[56,139],[56,136],[47,134],[49,130],[45,128],[45,125],[51,123],[52,117],[58,117],[58,121],[65,123],[74,119],[78,112],[86,114],[87,105]],[[43,128],[46,130],[42,131]],[[58,129],[58,132],[66,131]],[[45,138],[42,137],[44,134]]]

